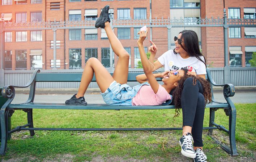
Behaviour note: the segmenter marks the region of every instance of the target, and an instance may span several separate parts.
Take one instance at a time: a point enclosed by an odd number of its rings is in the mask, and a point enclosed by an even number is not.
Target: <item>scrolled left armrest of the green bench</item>
[[[25,87],[31,86],[30,87],[30,93],[29,93],[29,99],[27,100],[27,102],[33,101],[34,100],[34,96],[35,96],[35,76],[39,72],[40,72],[40,70],[36,69],[33,72],[33,75],[31,77],[30,81],[26,85],[24,85],[24,86],[15,86],[15,85],[4,86],[2,91],[1,91],[2,96],[4,98],[9,98],[9,99],[13,100],[13,98],[15,96],[15,89],[14,88],[25,88]]]

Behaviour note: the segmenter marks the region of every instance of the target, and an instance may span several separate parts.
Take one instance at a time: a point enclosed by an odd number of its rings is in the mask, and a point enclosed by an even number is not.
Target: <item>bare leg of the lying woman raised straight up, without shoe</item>
[[[127,83],[128,70],[129,70],[129,53],[124,49],[121,42],[116,37],[115,33],[110,27],[110,23],[105,23],[105,31],[107,33],[108,40],[110,41],[111,47],[114,53],[118,56],[118,63],[116,64],[113,78],[120,84]]]

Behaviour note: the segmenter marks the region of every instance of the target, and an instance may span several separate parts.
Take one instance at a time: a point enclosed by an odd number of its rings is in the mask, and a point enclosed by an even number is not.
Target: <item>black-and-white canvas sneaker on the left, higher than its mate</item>
[[[191,133],[185,132],[183,136],[180,138],[179,143],[180,146],[182,147],[181,153],[190,158],[195,158],[196,157],[196,152],[193,148],[193,137]]]

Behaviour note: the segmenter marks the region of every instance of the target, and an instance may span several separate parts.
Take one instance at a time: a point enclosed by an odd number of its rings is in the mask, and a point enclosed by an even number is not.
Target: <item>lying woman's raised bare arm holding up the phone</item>
[[[148,30],[145,31],[139,31],[138,34],[140,34],[140,38],[137,41],[138,44],[138,49],[140,52],[140,58],[141,58],[141,63],[142,63],[142,67],[144,70],[144,73],[146,75],[146,77],[148,78],[149,84],[151,86],[151,88],[153,89],[154,93],[156,94],[159,88],[159,84],[157,82],[157,80],[155,79],[155,76],[152,73],[152,67],[149,63],[149,60],[146,56],[145,50],[144,50],[144,45],[143,42],[146,39]]]

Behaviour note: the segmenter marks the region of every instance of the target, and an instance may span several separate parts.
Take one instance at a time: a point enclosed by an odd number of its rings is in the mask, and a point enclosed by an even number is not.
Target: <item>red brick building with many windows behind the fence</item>
[[[41,22],[67,20],[95,20],[101,9],[110,5],[113,19],[182,18],[193,20],[204,17],[255,19],[255,0],[0,0],[0,14],[6,22]],[[151,6],[151,8],[150,8]],[[171,30],[171,37],[179,31]],[[224,66],[223,28],[189,27],[197,32],[207,64]],[[130,67],[140,59],[137,48],[139,28],[118,28],[114,32],[131,54]],[[151,29],[149,29],[151,30]],[[168,50],[166,28],[152,28],[152,39],[158,46],[159,57]],[[84,68],[90,57],[97,57],[110,67],[110,44],[101,29],[58,29],[56,31],[57,68]],[[256,27],[229,28],[229,59],[231,66],[249,66],[248,60],[256,51]],[[53,64],[52,30],[5,32],[4,69],[51,69]],[[145,42],[145,49],[149,46]],[[174,46],[174,43],[171,44]],[[216,51],[222,51],[216,55]],[[113,58],[115,62],[116,57]]]

